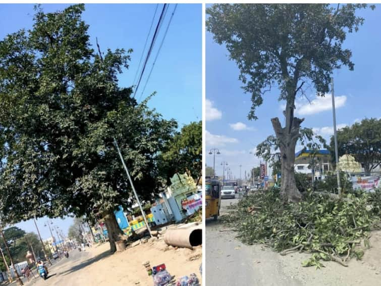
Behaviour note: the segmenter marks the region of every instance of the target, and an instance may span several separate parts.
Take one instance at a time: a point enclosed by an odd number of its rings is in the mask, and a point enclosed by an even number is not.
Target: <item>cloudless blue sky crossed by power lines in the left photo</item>
[[[62,10],[68,5],[44,4],[45,12]],[[90,41],[95,46],[95,37],[98,37],[101,50],[107,48],[115,50],[124,48],[133,49],[129,70],[125,70],[119,77],[120,86],[131,86],[139,65],[144,43],[151,25],[156,4],[113,4],[98,5],[86,4],[83,13],[84,21],[90,25]],[[146,67],[145,76],[136,94],[137,99],[144,99],[153,91],[156,96],[149,102],[164,118],[175,118],[179,128],[192,121],[202,118],[202,6],[201,4],[180,4],[172,19],[164,44],[161,47],[152,74],[141,95],[147,75],[156,56],[167,24],[175,5],[169,6],[164,24],[158,34],[150,61]],[[157,8],[149,41],[158,21],[162,4]],[[0,5],[0,39],[8,33],[19,29],[29,29],[33,24],[33,5]],[[148,44],[149,44],[148,41]],[[145,53],[146,54],[146,53]],[[144,56],[145,56],[144,54]],[[148,71],[147,71],[148,69]],[[140,101],[141,101],[140,100]],[[42,218],[38,220],[43,239],[50,236],[47,227],[43,227]],[[65,233],[72,223],[71,218],[64,221],[53,220],[60,225]],[[18,227],[26,231],[35,231],[33,221],[21,222]]]

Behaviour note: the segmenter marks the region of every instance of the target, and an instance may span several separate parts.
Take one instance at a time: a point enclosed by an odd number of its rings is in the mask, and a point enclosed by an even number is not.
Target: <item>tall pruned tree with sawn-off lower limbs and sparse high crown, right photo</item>
[[[286,102],[285,126],[271,119],[282,160],[281,192],[288,201],[301,194],[294,177],[295,146],[304,118],[294,116],[295,99],[312,86],[319,96],[330,91],[335,69],[353,70],[351,51],[342,44],[348,32],[357,31],[364,19],[356,11],[363,4],[218,4],[207,9],[207,30],[225,44],[240,69],[243,89],[251,93],[249,119],[271,87],[280,89]],[[373,8],[373,7],[372,7]]]

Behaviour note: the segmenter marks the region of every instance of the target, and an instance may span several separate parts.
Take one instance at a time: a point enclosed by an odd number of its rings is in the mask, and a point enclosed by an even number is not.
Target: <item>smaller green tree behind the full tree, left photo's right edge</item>
[[[181,128],[181,132],[167,143],[166,149],[161,167],[168,184],[175,173],[187,172],[199,179],[202,175],[202,121]]]

